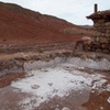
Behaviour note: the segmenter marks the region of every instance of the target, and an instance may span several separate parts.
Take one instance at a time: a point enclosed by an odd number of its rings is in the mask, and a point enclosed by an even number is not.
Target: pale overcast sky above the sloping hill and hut
[[[98,10],[109,10],[110,0],[1,0],[20,4],[24,8],[51,14],[75,24],[92,24],[86,16],[94,12],[94,4],[98,3]]]

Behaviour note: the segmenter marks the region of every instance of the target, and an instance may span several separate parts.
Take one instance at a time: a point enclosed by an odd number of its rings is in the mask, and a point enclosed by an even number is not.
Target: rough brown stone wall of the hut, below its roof
[[[94,21],[95,37],[91,44],[85,45],[86,51],[110,53],[110,22],[106,20]]]

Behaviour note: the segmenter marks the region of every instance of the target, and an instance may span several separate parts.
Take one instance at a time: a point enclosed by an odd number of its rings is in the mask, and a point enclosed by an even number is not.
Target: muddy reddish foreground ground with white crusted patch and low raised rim
[[[59,50],[0,56],[0,110],[110,110],[109,55]]]

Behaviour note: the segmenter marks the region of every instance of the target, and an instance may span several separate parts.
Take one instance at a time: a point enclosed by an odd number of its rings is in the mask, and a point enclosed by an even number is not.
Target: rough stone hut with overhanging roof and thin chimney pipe
[[[97,11],[95,4],[95,13],[87,16],[94,21],[95,37],[89,45],[90,51],[99,53],[110,53],[110,10]]]

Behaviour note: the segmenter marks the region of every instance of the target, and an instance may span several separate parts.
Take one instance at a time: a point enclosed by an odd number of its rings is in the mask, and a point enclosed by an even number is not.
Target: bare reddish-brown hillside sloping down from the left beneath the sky
[[[80,36],[64,33],[67,28],[80,29],[55,16],[0,2],[0,44],[70,42]]]

